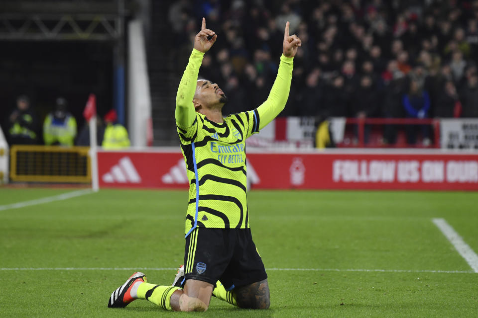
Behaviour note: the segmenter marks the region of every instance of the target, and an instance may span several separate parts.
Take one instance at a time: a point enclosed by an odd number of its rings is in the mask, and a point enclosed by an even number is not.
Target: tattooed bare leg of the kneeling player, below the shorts
[[[238,306],[249,309],[268,309],[270,306],[267,279],[234,289]]]

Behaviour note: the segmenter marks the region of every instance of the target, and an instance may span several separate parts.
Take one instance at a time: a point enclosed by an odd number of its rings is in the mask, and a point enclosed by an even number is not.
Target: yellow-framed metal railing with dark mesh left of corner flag
[[[89,147],[20,146],[10,149],[10,179],[26,182],[91,182]]]

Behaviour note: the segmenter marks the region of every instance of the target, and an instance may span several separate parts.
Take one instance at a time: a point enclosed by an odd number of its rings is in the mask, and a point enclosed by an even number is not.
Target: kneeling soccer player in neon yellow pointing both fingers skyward
[[[245,140],[284,109],[301,41],[289,35],[287,22],[269,97],[252,111],[224,118],[225,93],[209,80],[198,80],[204,53],[217,37],[203,18],[176,96],[176,124],[190,181],[185,265],[173,286],[150,284],[143,273],[134,273],[112,293],[108,307],[145,299],[166,310],[206,311],[212,295],[240,308],[270,306],[267,274],[248,221]]]

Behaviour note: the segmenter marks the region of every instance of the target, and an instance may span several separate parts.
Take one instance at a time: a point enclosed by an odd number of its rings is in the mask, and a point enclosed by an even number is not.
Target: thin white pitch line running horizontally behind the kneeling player
[[[0,268],[0,271],[40,271],[40,270],[176,270],[173,267],[11,267]],[[266,271],[311,271],[311,272],[380,272],[380,273],[444,273],[444,274],[473,274],[473,271],[461,271],[461,270],[408,270],[408,269],[340,269],[340,268],[266,268]]]

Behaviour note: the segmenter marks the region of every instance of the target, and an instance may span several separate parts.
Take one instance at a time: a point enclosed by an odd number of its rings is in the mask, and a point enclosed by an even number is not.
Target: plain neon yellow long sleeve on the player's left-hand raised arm
[[[193,123],[196,120],[193,98],[203,56],[203,52],[193,49],[186,70],[184,70],[183,77],[179,82],[174,115],[176,117],[176,124],[183,130],[192,130]]]

